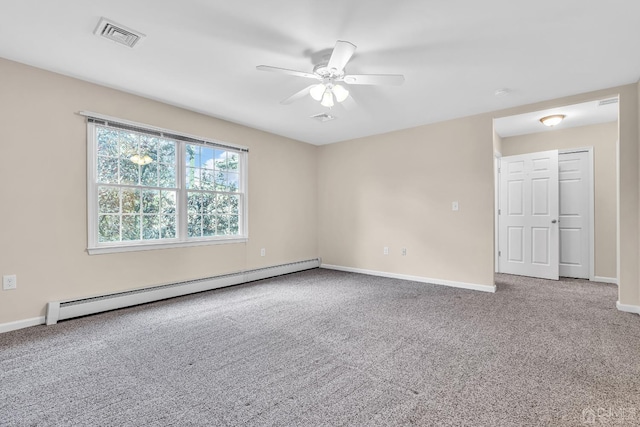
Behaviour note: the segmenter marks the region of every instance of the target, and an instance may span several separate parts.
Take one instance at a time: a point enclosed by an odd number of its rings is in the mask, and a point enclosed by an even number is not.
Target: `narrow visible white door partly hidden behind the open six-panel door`
[[[589,153],[560,153],[560,275],[589,278]]]

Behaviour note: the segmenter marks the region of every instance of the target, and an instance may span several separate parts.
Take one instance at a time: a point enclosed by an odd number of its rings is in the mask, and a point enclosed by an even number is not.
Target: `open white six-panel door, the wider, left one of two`
[[[500,160],[500,271],[558,280],[558,150]]]

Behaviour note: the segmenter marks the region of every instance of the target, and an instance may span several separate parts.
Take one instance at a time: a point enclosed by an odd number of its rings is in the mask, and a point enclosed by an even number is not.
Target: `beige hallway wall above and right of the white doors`
[[[502,155],[593,147],[595,275],[617,275],[617,166],[618,123],[603,123],[502,139]]]

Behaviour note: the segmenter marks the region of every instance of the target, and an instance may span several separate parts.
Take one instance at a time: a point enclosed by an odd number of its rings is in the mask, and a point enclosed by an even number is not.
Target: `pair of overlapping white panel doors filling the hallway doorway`
[[[593,150],[500,159],[498,272],[589,279],[593,265]]]

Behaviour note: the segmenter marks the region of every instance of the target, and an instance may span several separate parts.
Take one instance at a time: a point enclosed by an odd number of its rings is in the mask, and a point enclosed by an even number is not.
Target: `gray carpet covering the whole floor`
[[[0,425],[640,425],[614,285],[497,286],[316,269],[5,333]]]

